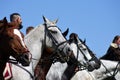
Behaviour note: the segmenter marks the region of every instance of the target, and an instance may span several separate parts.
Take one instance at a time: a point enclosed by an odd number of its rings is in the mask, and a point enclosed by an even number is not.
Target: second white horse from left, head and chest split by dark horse
[[[85,43],[78,38],[77,34],[72,33],[70,35],[69,41],[70,41],[70,46],[71,46],[71,49],[73,50],[75,57],[81,64],[80,69],[87,68],[88,70],[94,70],[94,69],[98,69],[100,67],[100,63],[97,60],[97,58],[95,58],[95,56],[93,57],[91,55],[93,53],[91,53],[91,51],[87,47],[87,45],[85,45]],[[66,68],[67,68],[67,63],[62,64],[62,63],[56,62],[56,63],[52,64],[52,66],[46,76],[46,80],[62,80],[61,76],[64,73]],[[67,73],[67,74],[70,75],[70,73]]]

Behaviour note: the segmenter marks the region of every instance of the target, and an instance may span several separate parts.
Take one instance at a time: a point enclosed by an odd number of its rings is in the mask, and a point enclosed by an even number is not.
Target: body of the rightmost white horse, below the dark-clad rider
[[[78,71],[71,80],[120,80],[120,66],[117,61],[101,60],[101,62],[99,69],[92,72]]]

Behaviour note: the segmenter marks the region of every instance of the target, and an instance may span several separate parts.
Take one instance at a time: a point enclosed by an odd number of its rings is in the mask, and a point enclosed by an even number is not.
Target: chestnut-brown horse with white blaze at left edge
[[[4,80],[3,71],[9,57],[13,56],[23,66],[28,66],[29,51],[24,44],[21,32],[15,27],[17,23],[0,20],[0,80]]]

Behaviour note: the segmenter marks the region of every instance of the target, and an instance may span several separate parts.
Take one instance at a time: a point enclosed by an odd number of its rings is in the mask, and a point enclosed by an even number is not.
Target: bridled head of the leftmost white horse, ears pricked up
[[[59,60],[64,62],[67,60],[68,55],[72,50],[67,40],[63,36],[61,30],[57,27],[58,20],[50,21],[43,16],[45,26],[45,44],[48,48],[52,48],[52,51],[59,56]],[[67,34],[67,32],[66,32]]]

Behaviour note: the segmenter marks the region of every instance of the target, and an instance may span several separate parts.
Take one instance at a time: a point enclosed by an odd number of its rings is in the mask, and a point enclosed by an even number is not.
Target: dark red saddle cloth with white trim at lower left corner
[[[12,78],[12,70],[11,70],[11,64],[6,63],[5,70],[3,72],[3,76],[5,80],[10,80]]]

